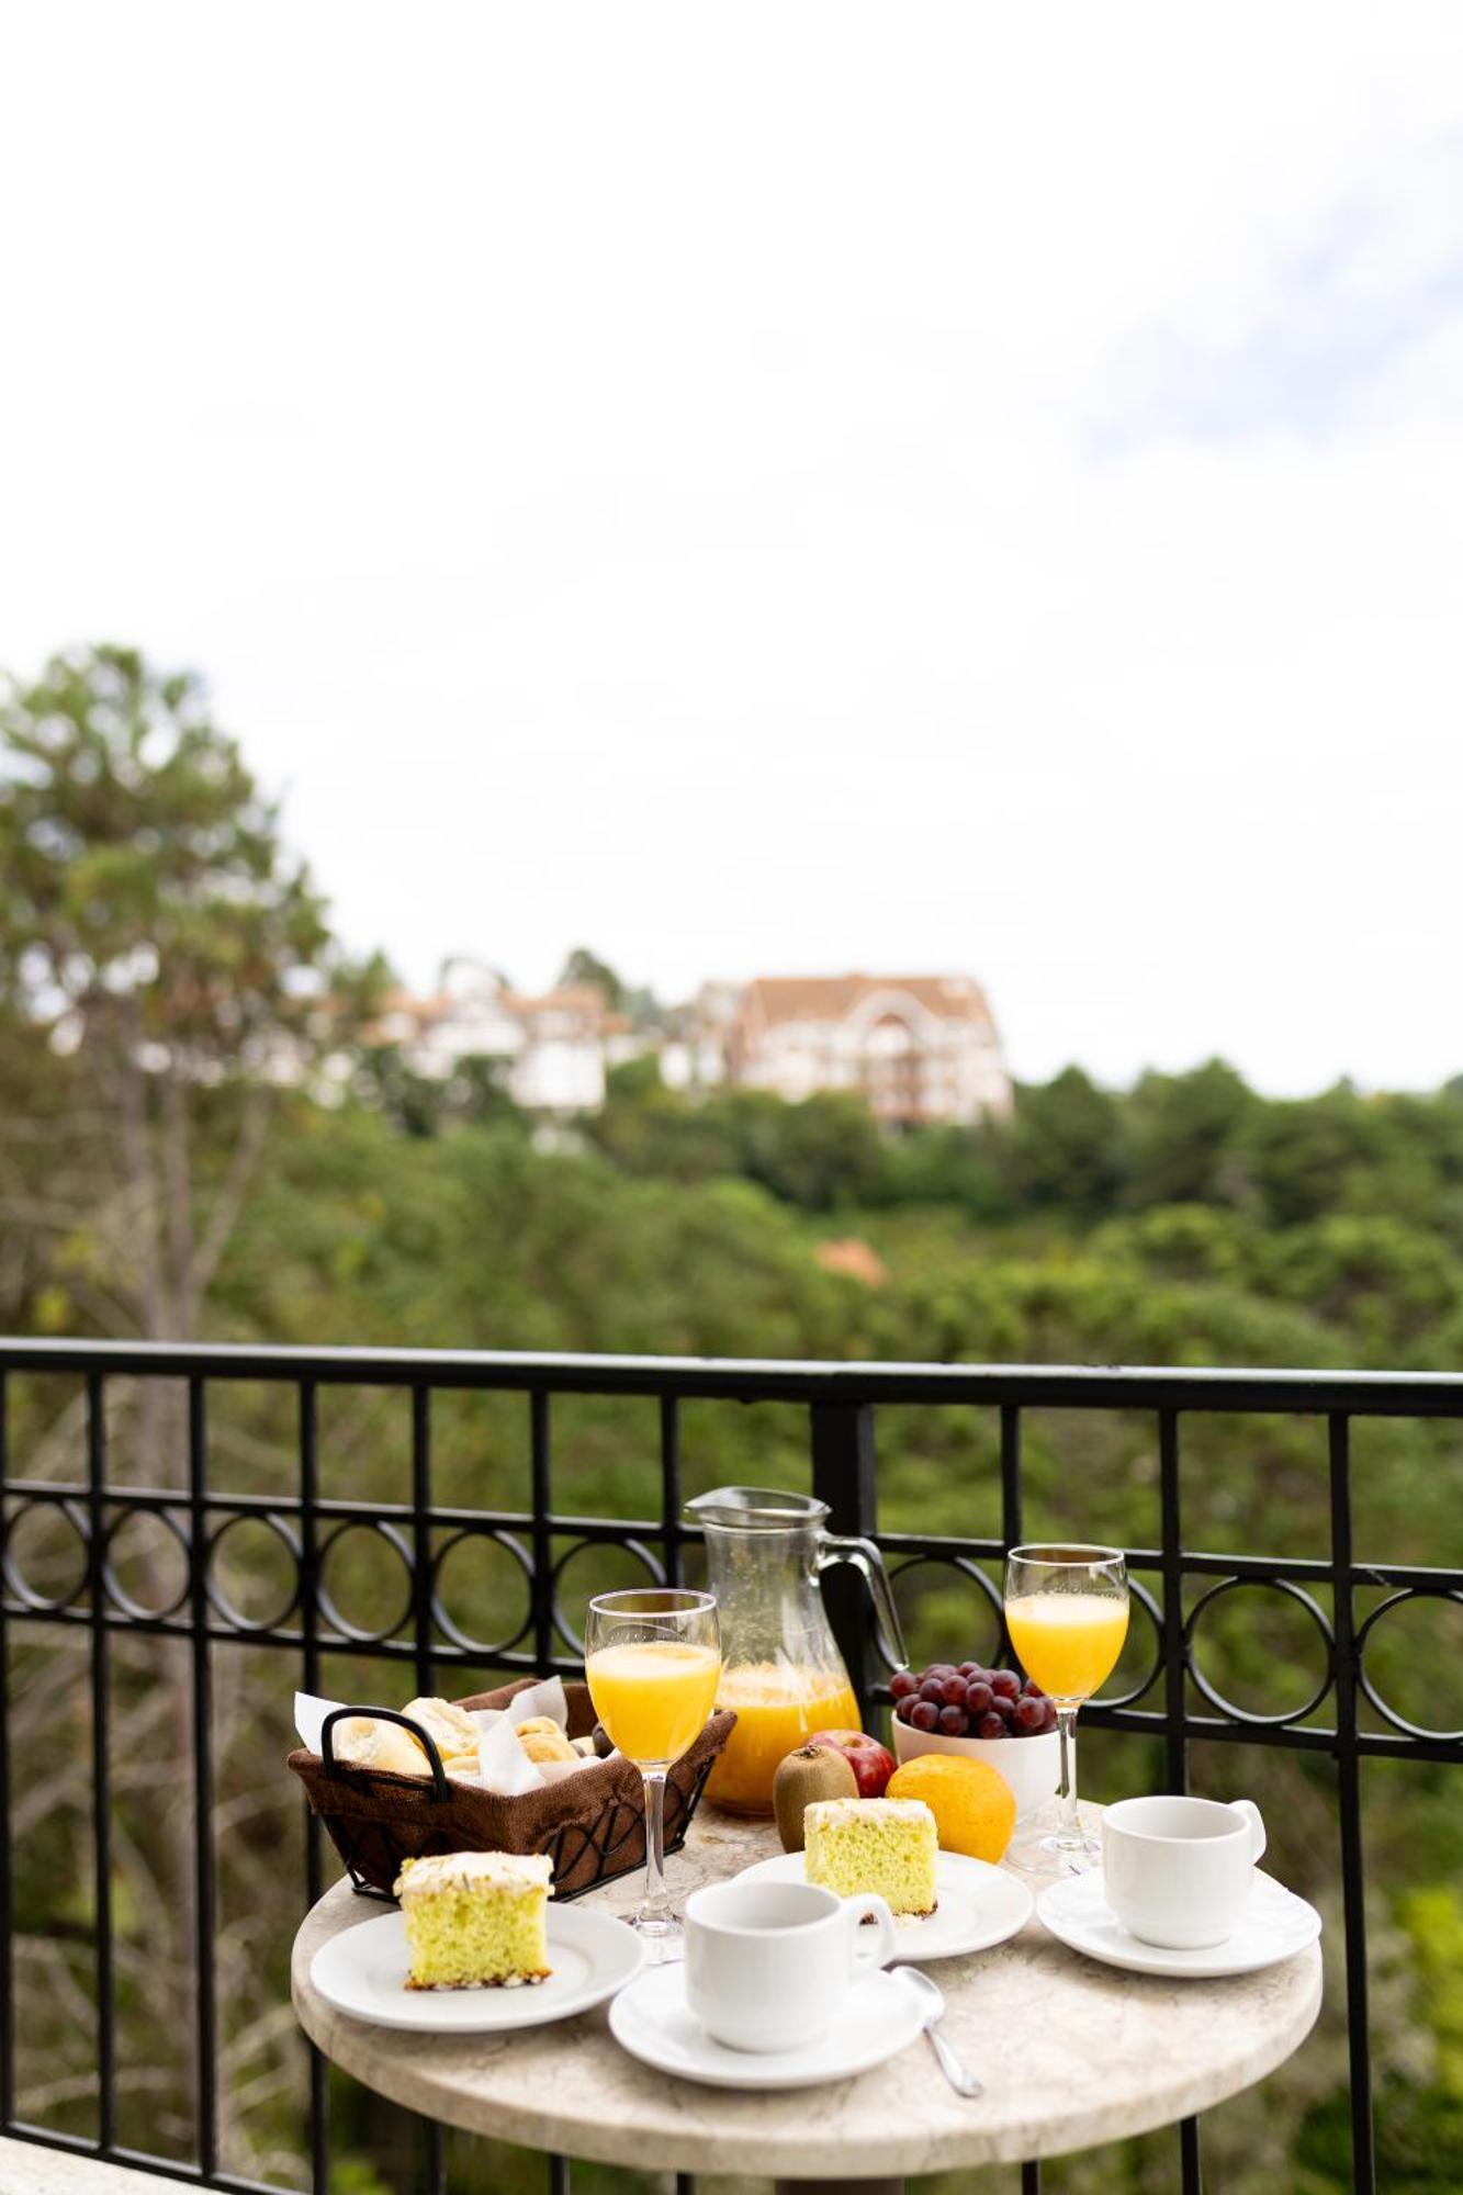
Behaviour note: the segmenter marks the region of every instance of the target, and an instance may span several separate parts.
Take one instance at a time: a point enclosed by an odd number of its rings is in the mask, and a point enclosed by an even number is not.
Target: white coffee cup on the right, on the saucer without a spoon
[[[1263,1850],[1248,1798],[1125,1798],[1103,1815],[1103,1892],[1142,1943],[1199,1951],[1235,1934]]]

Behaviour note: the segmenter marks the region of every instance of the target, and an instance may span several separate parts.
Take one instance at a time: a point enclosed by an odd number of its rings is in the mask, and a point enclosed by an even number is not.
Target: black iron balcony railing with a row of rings
[[[83,1383],[83,1471],[72,1477],[35,1475],[29,1457],[7,1438],[7,1376]],[[187,1475],[180,1484],[134,1484],[110,1468],[108,1398],[121,1385],[182,1383],[187,1392]],[[213,1464],[209,1405],[224,1383],[268,1383],[288,1389],[297,1411],[297,1473],[286,1493],[231,1493]],[[325,1389],[398,1389],[409,1398],[411,1499],[382,1504],[321,1493],[319,1407]],[[481,1510],[439,1506],[433,1499],[433,1403],[453,1389],[518,1394],[527,1407],[532,1506]],[[554,1508],[551,1409],[560,1396],[639,1396],[659,1405],[659,1515],[606,1519],[560,1515]],[[512,1357],[404,1350],[253,1350],[70,1341],[0,1341],[0,1493],[4,1501],[4,1594],[0,1598],[0,1659],[35,1637],[75,1629],[90,1659],[90,1947],[97,2006],[94,2138],[62,2134],[18,2116],[15,2087],[15,1929],[13,1910],[11,1765],[9,1730],[0,1706],[0,2131],[62,2142],[132,2164],[154,2164],[193,2177],[200,2186],[255,2191],[266,2182],[224,2169],[220,2158],[220,2004],[215,1980],[215,1870],[217,1826],[213,1787],[213,1655],[248,1644],[288,1657],[305,1690],[321,1688],[323,1655],[360,1655],[409,1664],[413,1684],[450,1690],[450,1670],[562,1670],[578,1668],[573,1620],[560,1607],[567,1561],[589,1545],[633,1550],[655,1578],[677,1580],[688,1534],[681,1523],[681,1405],[692,1400],[791,1403],[808,1414],[813,1490],[833,1510],[839,1532],[881,1541],[890,1561],[956,1565],[982,1591],[999,1622],[993,1567],[1021,1539],[1024,1414],[1120,1411],[1142,1414],[1155,1433],[1160,1541],[1129,1547],[1136,1602],[1153,1631],[1153,1659],[1133,1688],[1087,1721],[1144,1732],[1160,1741],[1164,1780],[1186,1789],[1191,1741],[1243,1741],[1329,1756],[1336,1763],[1336,1872],[1344,1918],[1344,2011],[1349,2028],[1351,2175],[1369,2195],[1375,2186],[1371,2059],[1366,2019],[1366,1907],[1362,1875],[1360,1765],[1366,1756],[1426,1763],[1463,1763],[1463,1734],[1430,1732],[1399,1714],[1366,1668],[1366,1646],[1377,1620],[1401,1600],[1463,1600],[1463,1572],[1366,1565],[1353,1552],[1351,1429],[1369,1418],[1463,1420],[1463,1376],[1307,1374],[1307,1372],[1164,1372],[1164,1370],[1048,1370],[945,1365],[800,1365],[714,1363],[683,1359]],[[874,1431],[887,1405],[993,1409],[999,1422],[999,1534],[986,1539],[879,1532]],[[1191,1414],[1270,1414],[1325,1420],[1327,1512],[1325,1556],[1261,1556],[1204,1552],[1184,1545],[1180,1501],[1180,1442]],[[75,1580],[59,1591],[37,1591],[13,1556],[18,1532],[42,1512],[64,1521],[79,1545]],[[143,1607],[127,1591],[112,1545],[130,1519],[147,1517],[180,1552],[180,1589],[171,1605]],[[288,1607],[268,1620],[237,1609],[220,1585],[220,1547],[239,1521],[264,1523],[292,1574]],[[404,1565],[406,1594],[380,1626],[349,1622],[332,1602],[325,1561],[336,1534],[365,1526],[384,1536]],[[464,1633],[439,1594],[442,1565],[461,1541],[492,1541],[507,1550],[527,1580],[527,1613],[516,1631],[485,1642]],[[556,1552],[560,1543],[567,1552]],[[868,1624],[855,1600],[841,1598],[844,1580],[830,1578],[833,1620],[855,1681],[865,1701],[887,1699],[885,1673],[874,1666]],[[1283,1714],[1254,1714],[1228,1701],[1204,1675],[1193,1635],[1206,1605],[1237,1585],[1278,1587],[1314,1622],[1322,1642],[1325,1675],[1311,1699]],[[1358,1607],[1358,1596],[1382,1600]],[[1322,1598],[1329,1602],[1322,1607]],[[48,1629],[46,1629],[48,1626]],[[196,2155],[156,2158],[119,2147],[116,2118],[116,1929],[112,1853],[112,1670],[119,1637],[180,1642],[189,1657],[191,1712],[191,1907],[193,1907],[193,2019],[196,2019]],[[281,1675],[283,1675],[281,1668]],[[283,1690],[283,1686],[281,1686]],[[0,1703],[4,1692],[0,1692]],[[1329,1710],[1322,1725],[1318,1714]],[[301,1901],[321,1892],[323,1868],[316,1824],[305,1844]],[[424,2129],[426,2184],[444,2186],[444,2149],[437,2129]],[[1199,2129],[1180,2129],[1182,2186],[1199,2188]],[[316,2195],[330,2186],[330,2114],[325,2065],[312,2057],[310,2171]],[[549,2160],[549,2186],[567,2186],[562,2160]],[[1039,2166],[1021,2166],[1021,2188],[1039,2188]]]

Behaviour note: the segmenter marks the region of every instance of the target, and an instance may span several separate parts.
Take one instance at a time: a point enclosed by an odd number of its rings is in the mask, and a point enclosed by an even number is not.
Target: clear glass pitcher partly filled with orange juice
[[[890,1574],[872,1539],[824,1532],[828,1504],[764,1486],[718,1486],[685,1504],[705,1530],[721,1613],[718,1708],[736,1730],[712,1767],[707,1798],[729,1813],[771,1813],[778,1763],[815,1730],[859,1730],[859,1701],[833,1640],[817,1580],[852,1563],[874,1600],[879,1648],[903,1668],[905,1642]]]

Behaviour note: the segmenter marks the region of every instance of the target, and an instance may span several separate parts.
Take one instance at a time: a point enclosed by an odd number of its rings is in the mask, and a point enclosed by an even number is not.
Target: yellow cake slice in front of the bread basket
[[[442,1853],[404,1859],[406,1989],[521,1989],[549,1975],[545,1853]]]

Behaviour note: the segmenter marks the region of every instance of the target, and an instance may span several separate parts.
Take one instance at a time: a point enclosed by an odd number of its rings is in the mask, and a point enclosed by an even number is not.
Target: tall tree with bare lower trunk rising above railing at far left
[[[202,685],[127,648],[0,700],[0,1012],[92,1133],[11,1196],[57,1282],[119,1332],[187,1339],[279,1087],[325,1069],[380,968],[336,950]],[[44,1122],[15,1108],[7,1141]]]

